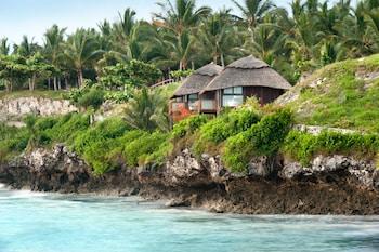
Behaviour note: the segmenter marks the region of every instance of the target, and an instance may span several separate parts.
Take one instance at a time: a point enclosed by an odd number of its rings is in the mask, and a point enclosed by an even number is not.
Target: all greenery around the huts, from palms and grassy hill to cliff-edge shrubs
[[[65,29],[53,26],[43,47],[24,38],[11,52],[2,40],[0,85],[10,92],[76,87],[64,95],[86,112],[29,116],[21,129],[0,124],[0,162],[56,143],[76,151],[96,174],[122,165],[159,164],[184,148],[198,156],[221,155],[225,167],[239,173],[260,156],[284,155],[304,165],[319,154],[375,158],[379,79],[367,81],[365,75],[379,71],[378,55],[315,71],[291,91],[299,96],[287,108],[260,107],[250,100],[218,118],[190,117],[171,130],[167,100],[175,85],[147,87],[162,77],[186,76],[192,65],[227,64],[252,53],[295,82],[301,74],[329,63],[379,52],[377,1],[360,1],[352,10],[350,1],[329,6],[295,0],[291,17],[269,0],[234,2],[241,17],[177,0],[159,4],[162,12],[152,24],[136,22],[135,13],[127,10],[119,22],[103,22],[100,31],[79,29],[66,36]],[[179,71],[169,74],[171,69]],[[93,110],[105,100],[126,103],[123,116],[93,123]],[[316,136],[291,130],[299,122],[367,134],[325,131]]]

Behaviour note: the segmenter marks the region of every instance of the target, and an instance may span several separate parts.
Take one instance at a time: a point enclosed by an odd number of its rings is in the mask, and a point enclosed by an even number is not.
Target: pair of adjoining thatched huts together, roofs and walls
[[[193,114],[218,115],[225,107],[237,107],[248,97],[264,105],[274,102],[291,85],[266,63],[247,56],[224,69],[208,64],[190,76],[171,97],[173,121]]]

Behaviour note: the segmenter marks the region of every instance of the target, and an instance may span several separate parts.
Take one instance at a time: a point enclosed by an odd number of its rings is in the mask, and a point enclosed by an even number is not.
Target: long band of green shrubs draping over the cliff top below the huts
[[[0,125],[0,161],[37,147],[65,143],[90,164],[96,174],[127,165],[159,164],[190,148],[195,154],[221,155],[226,168],[246,173],[254,157],[284,155],[308,165],[316,155],[344,154],[375,158],[379,136],[325,131],[321,135],[291,130],[287,109],[253,107],[225,111],[211,119],[194,116],[174,125],[171,132],[133,129],[125,120],[110,118],[90,125],[88,115],[25,119],[27,127]],[[220,131],[220,129],[222,131]]]

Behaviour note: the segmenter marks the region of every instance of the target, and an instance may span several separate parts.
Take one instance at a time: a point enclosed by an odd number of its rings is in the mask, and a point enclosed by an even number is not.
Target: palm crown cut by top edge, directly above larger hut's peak
[[[236,0],[232,1],[243,13],[243,16],[238,17],[238,19],[244,21],[250,31],[262,22],[265,14],[274,8],[271,0],[244,0],[244,5]]]

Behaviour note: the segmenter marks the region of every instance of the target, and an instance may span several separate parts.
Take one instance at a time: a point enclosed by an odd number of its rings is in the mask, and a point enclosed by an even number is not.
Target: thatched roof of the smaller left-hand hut
[[[175,91],[172,98],[200,93],[200,91],[202,91],[209,82],[214,79],[214,77],[220,75],[222,69],[221,66],[213,63],[197,69],[184,80],[183,84]]]

